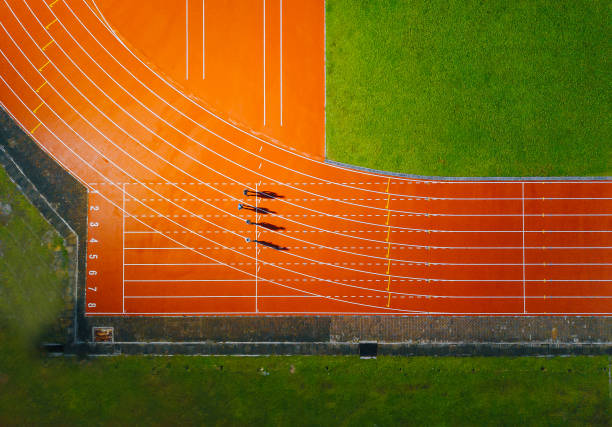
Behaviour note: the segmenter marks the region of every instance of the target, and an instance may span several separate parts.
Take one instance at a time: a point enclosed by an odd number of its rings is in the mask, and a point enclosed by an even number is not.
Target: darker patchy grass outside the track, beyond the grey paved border
[[[2,168],[0,202],[2,426],[612,423],[606,357],[43,358],[66,252]]]

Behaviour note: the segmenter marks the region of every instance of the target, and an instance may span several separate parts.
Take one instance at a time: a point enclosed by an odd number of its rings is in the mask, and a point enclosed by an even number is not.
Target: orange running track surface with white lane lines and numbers
[[[0,101],[89,190],[88,315],[612,314],[611,181],[324,162],[323,1],[48,3]]]

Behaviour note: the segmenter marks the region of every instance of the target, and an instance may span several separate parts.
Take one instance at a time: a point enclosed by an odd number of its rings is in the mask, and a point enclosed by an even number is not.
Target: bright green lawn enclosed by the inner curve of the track
[[[612,7],[327,0],[327,155],[424,175],[612,173]]]

